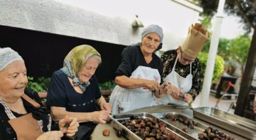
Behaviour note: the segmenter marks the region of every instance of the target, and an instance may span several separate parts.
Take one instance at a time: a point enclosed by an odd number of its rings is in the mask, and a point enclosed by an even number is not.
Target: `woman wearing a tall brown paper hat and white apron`
[[[188,30],[182,46],[165,52],[163,79],[172,84],[171,95],[156,99],[157,104],[188,106],[201,91],[201,67],[197,56],[209,40],[209,32],[196,23]]]

